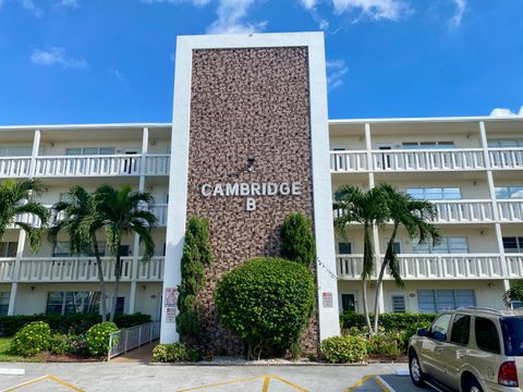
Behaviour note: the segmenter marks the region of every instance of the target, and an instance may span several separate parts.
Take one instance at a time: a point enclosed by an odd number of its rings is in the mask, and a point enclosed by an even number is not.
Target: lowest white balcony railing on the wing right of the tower
[[[499,255],[445,254],[445,255],[399,255],[401,277],[405,280],[430,279],[494,279],[503,278]],[[377,258],[378,265],[382,256]],[[523,261],[520,261],[520,267]],[[360,280],[363,255],[338,255],[338,278]],[[377,278],[377,271],[372,279]],[[391,279],[386,272],[385,279]]]

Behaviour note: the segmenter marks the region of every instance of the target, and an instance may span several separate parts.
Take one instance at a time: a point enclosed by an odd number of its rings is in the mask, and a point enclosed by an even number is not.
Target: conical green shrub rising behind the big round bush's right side
[[[316,256],[316,245],[311,219],[305,218],[303,213],[291,213],[281,225],[280,255],[288,260],[311,267]]]

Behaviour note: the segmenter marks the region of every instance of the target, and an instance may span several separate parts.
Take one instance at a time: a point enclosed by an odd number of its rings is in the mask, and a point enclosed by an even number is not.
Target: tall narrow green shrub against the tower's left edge
[[[177,330],[183,339],[202,343],[202,307],[196,295],[205,286],[205,267],[212,262],[209,221],[191,217],[185,232],[181,261],[182,281],[179,286]]]

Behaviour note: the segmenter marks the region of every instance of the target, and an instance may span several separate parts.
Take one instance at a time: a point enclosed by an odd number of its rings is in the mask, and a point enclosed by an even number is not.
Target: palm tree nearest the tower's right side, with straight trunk
[[[342,212],[335,219],[335,229],[341,235],[345,236],[345,225],[348,223],[358,222],[363,224],[363,310],[368,331],[373,333],[367,308],[367,280],[374,270],[374,247],[370,241],[370,230],[373,225],[380,226],[387,221],[386,197],[378,188],[365,192],[357,186],[342,185],[335,193],[333,199],[332,208]]]

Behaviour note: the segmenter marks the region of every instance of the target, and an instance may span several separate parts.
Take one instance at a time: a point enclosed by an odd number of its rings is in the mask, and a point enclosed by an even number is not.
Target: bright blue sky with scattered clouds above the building
[[[523,114],[522,0],[0,0],[0,124],[167,122],[175,37],[325,32],[329,118]]]

